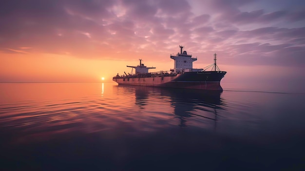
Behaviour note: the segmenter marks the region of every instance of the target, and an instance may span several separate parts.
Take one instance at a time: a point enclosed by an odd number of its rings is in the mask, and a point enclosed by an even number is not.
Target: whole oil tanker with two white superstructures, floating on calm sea
[[[223,91],[220,81],[227,72],[220,71],[216,65],[216,54],[214,54],[213,64],[202,69],[194,69],[192,63],[197,60],[197,57],[194,58],[187,51],[183,51],[183,46],[179,47],[180,53],[170,56],[174,60],[174,68],[170,71],[148,72],[155,67],[147,67],[142,63],[142,59],[139,59],[139,65],[127,65],[135,69],[135,74],[126,74],[126,72],[121,76],[117,74],[113,77],[113,81],[119,85]],[[211,70],[207,71],[209,68]]]

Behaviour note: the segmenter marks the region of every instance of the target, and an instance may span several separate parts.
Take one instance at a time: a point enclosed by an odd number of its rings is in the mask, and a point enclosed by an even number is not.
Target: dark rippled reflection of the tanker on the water
[[[218,91],[202,91],[190,89],[169,89],[159,87],[143,87],[143,86],[127,86],[118,85],[119,92],[123,91],[127,94],[135,95],[135,105],[141,110],[145,110],[147,105],[155,112],[162,113],[162,108],[167,108],[167,112],[175,114],[174,118],[179,119],[177,124],[180,127],[187,127],[188,119],[206,120],[205,122],[213,122],[216,129],[217,111],[225,110],[222,106],[225,105],[220,98],[221,92]],[[161,100],[161,102],[160,102]],[[145,113],[145,111],[141,111]],[[192,125],[198,125],[192,123]],[[201,125],[200,127],[204,127]]]

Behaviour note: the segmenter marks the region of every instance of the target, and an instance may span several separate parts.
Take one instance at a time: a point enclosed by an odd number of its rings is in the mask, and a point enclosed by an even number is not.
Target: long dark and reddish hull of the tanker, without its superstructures
[[[224,71],[210,71],[187,72],[175,76],[117,76],[113,78],[113,81],[117,82],[119,85],[222,91],[223,89],[220,86],[220,80],[226,73],[227,72]]]

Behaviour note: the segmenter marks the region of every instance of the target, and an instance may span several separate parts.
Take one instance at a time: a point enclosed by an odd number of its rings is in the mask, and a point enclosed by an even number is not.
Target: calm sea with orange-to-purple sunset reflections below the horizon
[[[302,170],[305,94],[0,83],[1,170]]]

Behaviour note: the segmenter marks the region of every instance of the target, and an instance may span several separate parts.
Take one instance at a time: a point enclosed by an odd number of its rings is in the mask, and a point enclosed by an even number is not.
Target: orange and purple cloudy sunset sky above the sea
[[[0,82],[111,82],[139,58],[173,68],[183,45],[194,68],[226,82],[305,79],[304,0],[2,0]]]

